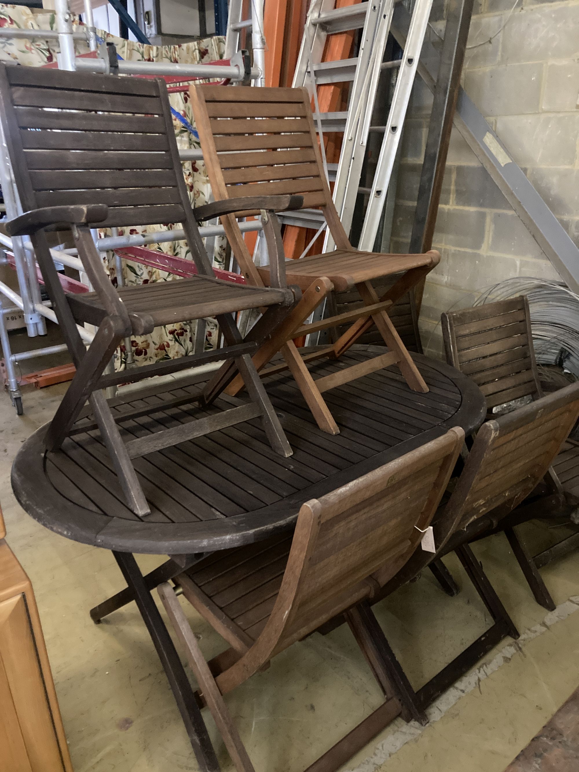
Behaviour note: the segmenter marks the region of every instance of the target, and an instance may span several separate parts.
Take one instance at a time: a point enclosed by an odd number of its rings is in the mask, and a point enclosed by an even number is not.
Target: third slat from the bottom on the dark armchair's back
[[[86,190],[87,188],[163,188],[175,185],[173,169],[154,171],[31,171],[36,190]]]

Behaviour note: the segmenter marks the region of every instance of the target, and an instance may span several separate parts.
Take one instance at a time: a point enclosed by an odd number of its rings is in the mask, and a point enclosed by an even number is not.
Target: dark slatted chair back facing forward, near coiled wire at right
[[[543,396],[525,296],[442,314],[446,359],[479,386],[489,411]]]

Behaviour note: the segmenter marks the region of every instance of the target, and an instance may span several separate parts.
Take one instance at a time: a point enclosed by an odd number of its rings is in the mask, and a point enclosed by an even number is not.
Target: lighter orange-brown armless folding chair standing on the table
[[[235,259],[246,279],[256,286],[270,286],[273,273],[270,266],[254,265],[235,216],[224,210],[230,196],[259,191],[263,194],[300,193],[304,207],[322,208],[337,245],[334,252],[286,262],[288,281],[303,289],[303,297],[277,333],[253,357],[258,371],[281,350],[318,426],[330,434],[337,434],[339,430],[323,401],[323,391],[391,364],[398,365],[411,389],[428,391],[387,312],[398,298],[438,264],[440,255],[435,251],[425,255],[387,255],[360,252],[350,245],[323,171],[306,89],[266,88],[258,91],[191,86],[191,100],[205,165],[217,199],[209,206],[216,217],[221,217]],[[267,247],[271,255],[269,242]],[[270,262],[273,265],[271,259]],[[394,276],[388,291],[378,297],[371,280]],[[361,295],[363,308],[304,324],[334,289],[342,291],[354,287]],[[354,324],[334,345],[303,358],[296,350],[294,338],[353,321]],[[388,346],[388,353],[313,380],[306,361],[323,356],[340,357],[374,324]],[[215,378],[215,387],[229,384],[231,374],[232,368],[224,366]],[[242,385],[242,381],[235,378],[227,391],[235,394]]]

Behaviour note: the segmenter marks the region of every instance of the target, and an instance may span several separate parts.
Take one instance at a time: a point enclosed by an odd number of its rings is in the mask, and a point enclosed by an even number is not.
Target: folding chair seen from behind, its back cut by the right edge
[[[372,603],[454,551],[494,620],[489,630],[422,689],[405,689],[415,709],[425,709],[506,635],[518,638],[513,621],[469,543],[504,527],[513,510],[530,496],[547,472],[578,415],[579,383],[483,424],[448,503],[438,508],[432,520],[436,553],[416,550],[401,571],[374,594]],[[538,503],[539,508],[543,505],[544,500]],[[532,499],[527,506],[533,506]],[[394,683],[399,669],[395,659],[388,665]]]

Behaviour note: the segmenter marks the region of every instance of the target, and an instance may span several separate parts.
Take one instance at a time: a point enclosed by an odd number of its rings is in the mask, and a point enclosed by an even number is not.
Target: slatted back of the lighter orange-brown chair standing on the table
[[[322,208],[337,249],[350,248],[323,171],[306,89],[192,86],[191,101],[215,198],[299,193],[303,208]],[[235,217],[222,223],[242,271],[261,284]]]

